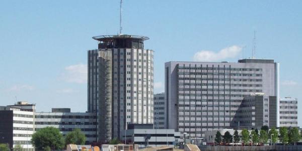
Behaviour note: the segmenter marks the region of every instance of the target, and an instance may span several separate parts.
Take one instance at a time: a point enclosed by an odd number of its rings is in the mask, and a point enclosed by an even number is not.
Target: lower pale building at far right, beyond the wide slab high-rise
[[[296,98],[280,99],[280,127],[296,127],[298,124],[298,101]]]

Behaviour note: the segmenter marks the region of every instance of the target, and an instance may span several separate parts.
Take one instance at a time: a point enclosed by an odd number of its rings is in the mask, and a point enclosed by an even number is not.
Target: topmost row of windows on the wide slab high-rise
[[[194,67],[178,66],[179,69],[198,69],[198,70],[233,70],[233,71],[262,71],[262,68],[230,68],[230,67]]]

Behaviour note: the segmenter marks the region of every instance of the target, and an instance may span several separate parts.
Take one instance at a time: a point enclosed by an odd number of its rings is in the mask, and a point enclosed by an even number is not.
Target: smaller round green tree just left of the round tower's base
[[[73,129],[71,132],[68,132],[65,136],[65,144],[85,144],[86,136],[79,128]]]

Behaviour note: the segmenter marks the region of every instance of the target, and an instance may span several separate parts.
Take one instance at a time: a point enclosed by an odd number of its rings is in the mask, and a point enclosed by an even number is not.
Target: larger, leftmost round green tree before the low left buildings
[[[47,146],[51,149],[63,147],[62,134],[59,129],[54,127],[45,127],[36,131],[32,135],[31,141],[37,150],[45,150]]]

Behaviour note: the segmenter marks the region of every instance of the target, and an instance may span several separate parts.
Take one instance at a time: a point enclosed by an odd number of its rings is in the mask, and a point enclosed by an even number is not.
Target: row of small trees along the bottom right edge
[[[296,145],[302,138],[302,130],[299,131],[297,127],[280,127],[279,131],[272,127],[271,129],[268,126],[262,126],[260,131],[258,129],[253,129],[251,133],[248,129],[243,129],[241,132],[241,137],[237,130],[234,132],[234,136],[230,134],[229,131],[226,131],[224,135],[221,135],[219,131],[216,132],[214,141],[219,144],[230,144],[233,143],[243,143],[247,144],[266,144],[269,143],[275,144],[278,140],[283,145],[293,144]]]

